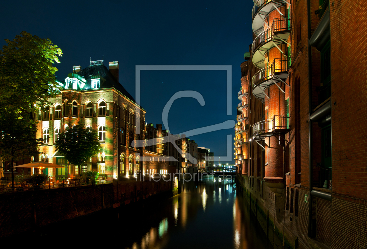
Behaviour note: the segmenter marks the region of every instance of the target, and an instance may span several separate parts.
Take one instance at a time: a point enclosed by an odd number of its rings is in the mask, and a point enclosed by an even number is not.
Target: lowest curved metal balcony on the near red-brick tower
[[[287,133],[289,131],[289,115],[275,115],[252,125],[252,139],[262,140],[271,137],[275,133]]]

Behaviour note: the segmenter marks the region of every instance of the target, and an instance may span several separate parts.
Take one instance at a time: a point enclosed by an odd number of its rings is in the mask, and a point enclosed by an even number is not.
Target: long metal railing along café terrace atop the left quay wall
[[[75,187],[82,185],[96,185],[107,183],[106,176],[100,176],[98,179],[92,179],[88,176],[80,176],[73,178],[66,178],[57,176],[48,178],[14,178],[14,189],[11,186],[11,179],[0,179],[0,193],[6,192],[23,192],[39,189],[54,189],[61,187]]]

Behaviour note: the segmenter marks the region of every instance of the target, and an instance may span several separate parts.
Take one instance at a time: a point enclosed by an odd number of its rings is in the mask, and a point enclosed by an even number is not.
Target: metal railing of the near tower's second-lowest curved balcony
[[[277,58],[274,59],[272,64],[259,70],[251,79],[252,89],[259,83],[273,78],[275,73],[288,71],[288,59]]]

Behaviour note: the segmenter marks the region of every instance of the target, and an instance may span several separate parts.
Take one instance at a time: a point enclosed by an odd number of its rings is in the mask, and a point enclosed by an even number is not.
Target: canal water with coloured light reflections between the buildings
[[[234,181],[214,180],[181,185],[181,194],[151,213],[159,223],[125,248],[272,248]]]

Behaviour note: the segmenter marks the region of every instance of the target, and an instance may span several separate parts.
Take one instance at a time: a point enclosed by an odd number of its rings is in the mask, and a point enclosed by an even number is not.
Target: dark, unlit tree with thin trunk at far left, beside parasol
[[[10,109],[1,113],[0,127],[0,157],[11,161],[11,187],[14,189],[14,161],[36,155],[42,138],[36,139],[32,124],[19,119],[18,114]]]

